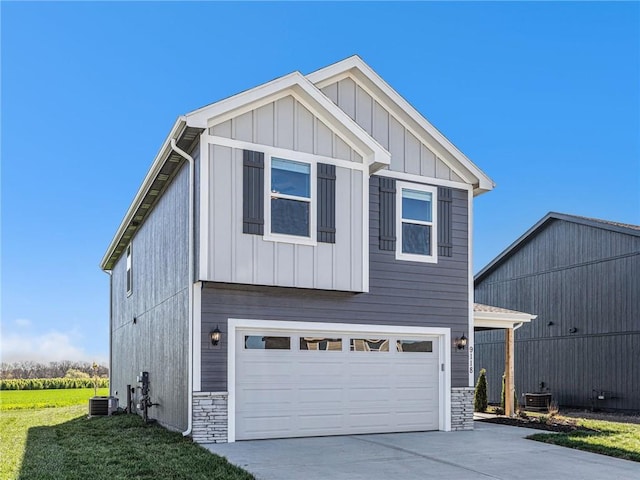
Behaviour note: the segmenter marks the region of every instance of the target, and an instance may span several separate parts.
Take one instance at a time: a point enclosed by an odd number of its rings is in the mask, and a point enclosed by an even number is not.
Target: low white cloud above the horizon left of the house
[[[75,335],[62,332],[48,332],[38,335],[25,333],[5,333],[0,340],[0,356],[3,362],[57,362],[61,360],[71,361],[98,361],[103,358],[95,358],[85,352],[84,348],[75,344]]]

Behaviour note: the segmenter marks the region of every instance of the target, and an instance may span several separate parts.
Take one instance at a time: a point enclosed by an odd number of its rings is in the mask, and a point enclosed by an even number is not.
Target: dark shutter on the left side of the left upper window
[[[264,234],[264,153],[242,155],[242,231]]]

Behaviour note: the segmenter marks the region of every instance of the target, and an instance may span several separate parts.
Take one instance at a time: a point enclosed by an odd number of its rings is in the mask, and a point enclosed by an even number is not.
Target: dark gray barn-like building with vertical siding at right
[[[515,387],[560,406],[640,410],[640,226],[549,213],[475,276],[477,302],[538,314],[515,332]],[[500,400],[504,331],[475,336]]]

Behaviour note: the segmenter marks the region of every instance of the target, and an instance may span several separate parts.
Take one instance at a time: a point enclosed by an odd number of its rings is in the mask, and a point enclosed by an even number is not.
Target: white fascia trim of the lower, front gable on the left
[[[286,95],[293,95],[305,108],[348,139],[351,147],[355,148],[367,161],[370,170],[377,171],[391,163],[391,154],[300,72],[290,73],[191,112],[186,115],[187,125],[208,128]]]

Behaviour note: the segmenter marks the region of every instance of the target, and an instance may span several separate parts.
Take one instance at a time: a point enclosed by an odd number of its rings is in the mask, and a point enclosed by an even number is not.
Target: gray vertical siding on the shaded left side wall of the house
[[[148,371],[149,415],[175,430],[187,428],[188,192],[185,162],[133,237],[131,295],[126,254],[111,273],[111,394],[125,407],[126,386]]]

